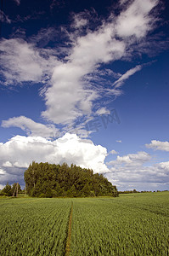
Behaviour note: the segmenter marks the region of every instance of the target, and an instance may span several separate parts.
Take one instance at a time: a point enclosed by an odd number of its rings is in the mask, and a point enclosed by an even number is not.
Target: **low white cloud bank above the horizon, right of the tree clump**
[[[117,156],[110,161],[110,173],[106,177],[115,183],[119,189],[149,188],[151,190],[169,185],[169,162],[149,165],[151,156],[146,152]]]

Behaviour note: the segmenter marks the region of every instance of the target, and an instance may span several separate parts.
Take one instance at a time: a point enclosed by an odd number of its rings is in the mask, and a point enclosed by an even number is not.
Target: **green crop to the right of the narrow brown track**
[[[165,193],[74,199],[70,255],[169,255]]]

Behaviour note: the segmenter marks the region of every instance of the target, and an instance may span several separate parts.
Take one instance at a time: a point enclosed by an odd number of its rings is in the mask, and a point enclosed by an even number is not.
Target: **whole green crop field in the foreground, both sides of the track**
[[[0,219],[3,256],[169,255],[169,192],[2,198]]]

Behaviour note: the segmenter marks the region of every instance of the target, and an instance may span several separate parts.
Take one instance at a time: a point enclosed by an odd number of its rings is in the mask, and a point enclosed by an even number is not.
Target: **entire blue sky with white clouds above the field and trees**
[[[32,160],[169,189],[167,1],[8,0],[0,17],[0,189]]]

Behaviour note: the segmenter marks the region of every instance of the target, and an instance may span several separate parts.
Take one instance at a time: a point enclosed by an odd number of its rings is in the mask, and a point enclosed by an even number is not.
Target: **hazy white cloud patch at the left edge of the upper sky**
[[[42,78],[41,59],[38,53],[27,44],[19,39],[3,39],[0,44],[2,51],[3,76],[7,83],[24,81],[38,82]]]

